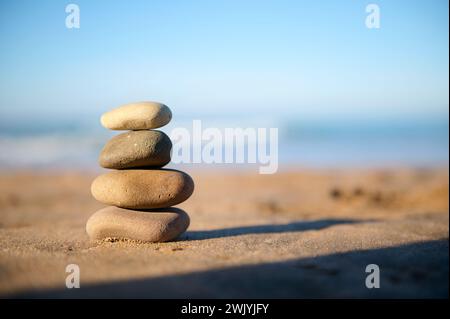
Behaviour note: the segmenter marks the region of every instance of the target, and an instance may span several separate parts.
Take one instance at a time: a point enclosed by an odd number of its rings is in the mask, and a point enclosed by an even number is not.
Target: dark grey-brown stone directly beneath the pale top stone
[[[98,159],[104,168],[162,167],[170,162],[172,142],[160,131],[130,131],[114,136]]]

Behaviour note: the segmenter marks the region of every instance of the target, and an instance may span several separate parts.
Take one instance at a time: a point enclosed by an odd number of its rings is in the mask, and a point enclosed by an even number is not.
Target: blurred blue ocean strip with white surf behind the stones
[[[302,120],[296,117],[174,118],[164,132],[174,128],[276,127],[279,169],[372,168],[394,166],[447,166],[448,119],[415,120]],[[105,142],[119,132],[104,129],[98,116],[71,119],[0,121],[0,169],[97,169]],[[225,147],[225,145],[224,145]],[[214,167],[198,163],[195,167]],[[221,167],[240,168],[241,164]],[[175,165],[176,167],[176,165]]]

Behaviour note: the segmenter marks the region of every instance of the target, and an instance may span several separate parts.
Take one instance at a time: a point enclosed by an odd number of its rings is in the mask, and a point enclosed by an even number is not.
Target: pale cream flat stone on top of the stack
[[[122,105],[102,115],[100,122],[110,130],[148,130],[166,125],[172,119],[170,109],[158,102]]]

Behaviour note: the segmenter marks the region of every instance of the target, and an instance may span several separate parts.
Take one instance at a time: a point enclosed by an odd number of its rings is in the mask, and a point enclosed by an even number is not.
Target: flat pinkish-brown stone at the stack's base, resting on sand
[[[158,211],[135,211],[109,206],[89,218],[86,232],[91,240],[116,238],[164,242],[177,238],[188,227],[188,214],[175,207]]]

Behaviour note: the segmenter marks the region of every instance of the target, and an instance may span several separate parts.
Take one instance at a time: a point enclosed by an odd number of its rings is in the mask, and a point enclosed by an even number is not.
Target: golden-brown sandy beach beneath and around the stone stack
[[[89,241],[95,174],[0,173],[0,296],[448,298],[447,169],[188,173],[191,226],[159,244]]]

